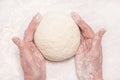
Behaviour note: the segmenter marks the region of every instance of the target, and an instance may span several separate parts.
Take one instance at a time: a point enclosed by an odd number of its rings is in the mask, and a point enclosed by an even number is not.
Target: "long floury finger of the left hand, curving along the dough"
[[[28,28],[25,31],[25,34],[24,34],[25,41],[33,40],[34,32],[35,32],[36,28],[38,27],[40,21],[41,21],[41,15],[39,13],[37,13],[33,17],[32,21],[30,22]]]

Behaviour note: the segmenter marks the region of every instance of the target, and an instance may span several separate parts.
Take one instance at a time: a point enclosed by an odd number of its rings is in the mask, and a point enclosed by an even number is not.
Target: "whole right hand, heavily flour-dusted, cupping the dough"
[[[72,18],[81,31],[81,40],[75,55],[75,65],[79,80],[102,80],[102,46],[104,29],[96,34],[81,17],[73,12]]]

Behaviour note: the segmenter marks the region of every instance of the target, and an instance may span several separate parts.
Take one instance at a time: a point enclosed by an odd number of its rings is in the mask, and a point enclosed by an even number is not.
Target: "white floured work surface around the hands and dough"
[[[0,0],[0,80],[23,80],[19,51],[11,38],[23,37],[32,17],[40,12],[75,11],[103,37],[104,80],[120,80],[120,0]],[[74,58],[46,62],[47,80],[78,80]]]

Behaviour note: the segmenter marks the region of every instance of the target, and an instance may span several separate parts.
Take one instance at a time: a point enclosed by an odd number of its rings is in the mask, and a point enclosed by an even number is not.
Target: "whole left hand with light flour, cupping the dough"
[[[41,21],[40,14],[36,14],[24,33],[24,39],[14,37],[12,40],[20,51],[24,80],[45,80],[45,59],[34,44],[34,32]]]

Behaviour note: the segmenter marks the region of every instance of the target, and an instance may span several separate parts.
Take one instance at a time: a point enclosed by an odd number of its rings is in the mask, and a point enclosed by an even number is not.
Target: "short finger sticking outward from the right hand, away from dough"
[[[94,48],[98,48],[101,46],[101,39],[105,32],[106,32],[105,29],[101,29],[96,33],[96,35],[93,39],[93,47]]]

